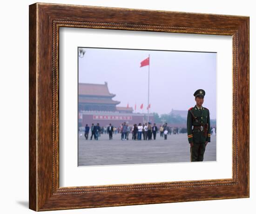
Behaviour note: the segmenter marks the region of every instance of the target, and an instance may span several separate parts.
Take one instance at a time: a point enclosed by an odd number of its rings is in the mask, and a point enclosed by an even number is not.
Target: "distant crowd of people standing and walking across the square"
[[[84,129],[84,136],[86,140],[88,140],[90,132],[90,140],[93,138],[94,140],[98,140],[101,134],[108,134],[109,140],[113,139],[113,134],[121,134],[121,140],[123,141],[129,140],[129,138],[132,140],[152,140],[153,138],[155,140],[157,133],[160,133],[160,137],[167,140],[168,135],[187,133],[187,129],[182,127],[170,127],[167,125],[167,123],[157,127],[155,123],[152,125],[151,122],[143,124],[139,123],[138,125],[133,124],[132,126],[128,125],[126,122],[123,122],[119,127],[113,126],[111,123],[109,126],[105,127],[101,127],[99,123],[96,125],[92,123],[91,127],[86,124]],[[211,127],[211,133],[216,135],[215,127]],[[80,136],[82,136],[82,134]]]

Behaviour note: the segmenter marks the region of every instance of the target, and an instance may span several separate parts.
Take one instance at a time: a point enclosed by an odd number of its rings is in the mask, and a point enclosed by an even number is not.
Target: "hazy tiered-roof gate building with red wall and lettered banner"
[[[132,107],[117,106],[120,101],[115,101],[108,90],[108,83],[88,84],[79,83],[78,87],[78,123],[79,126],[91,123],[100,123],[106,126],[111,123],[120,126],[126,122],[129,125],[146,123],[147,114],[133,113]],[[154,123],[153,114],[149,114],[149,121]]]

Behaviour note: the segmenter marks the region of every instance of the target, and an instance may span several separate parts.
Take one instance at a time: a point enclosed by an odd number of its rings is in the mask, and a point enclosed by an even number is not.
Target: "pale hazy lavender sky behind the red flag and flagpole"
[[[141,61],[150,54],[149,112],[158,114],[174,110],[188,110],[195,105],[194,92],[206,91],[203,106],[216,118],[216,53],[175,52],[148,50],[121,50],[85,48],[79,58],[79,82],[104,84],[108,82],[110,93],[118,106],[144,110],[148,104],[148,66]]]

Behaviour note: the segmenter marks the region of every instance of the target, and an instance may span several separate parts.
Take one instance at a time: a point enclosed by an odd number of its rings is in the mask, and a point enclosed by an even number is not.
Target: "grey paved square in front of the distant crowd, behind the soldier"
[[[109,140],[108,134],[101,134],[99,140],[90,140],[90,136],[91,133],[88,140],[84,133],[79,137],[79,166],[190,162],[187,134],[171,134],[164,140],[157,133],[156,140],[150,141],[122,141],[121,134],[113,134],[113,140]],[[211,136],[206,146],[204,161],[216,161],[216,136]]]

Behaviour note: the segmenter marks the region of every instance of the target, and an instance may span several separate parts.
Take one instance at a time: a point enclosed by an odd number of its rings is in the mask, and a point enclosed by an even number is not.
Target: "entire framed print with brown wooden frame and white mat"
[[[29,208],[249,197],[249,17],[29,6]]]

